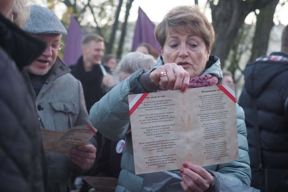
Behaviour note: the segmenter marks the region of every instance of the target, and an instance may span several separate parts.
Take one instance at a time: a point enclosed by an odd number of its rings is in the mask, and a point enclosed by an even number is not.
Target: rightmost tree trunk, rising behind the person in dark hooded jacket
[[[270,31],[274,26],[273,16],[279,0],[273,0],[269,6],[260,9],[257,15],[256,30],[253,38],[253,46],[249,62],[257,57],[266,55]]]

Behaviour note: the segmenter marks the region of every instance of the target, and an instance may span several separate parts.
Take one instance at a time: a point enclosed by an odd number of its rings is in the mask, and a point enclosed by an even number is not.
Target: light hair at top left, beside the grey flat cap
[[[28,0],[14,0],[11,19],[19,27],[24,26],[30,16],[30,6],[27,5]]]

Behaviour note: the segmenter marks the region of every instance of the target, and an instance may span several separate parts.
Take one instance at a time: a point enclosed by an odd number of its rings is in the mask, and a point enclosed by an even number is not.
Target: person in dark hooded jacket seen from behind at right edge
[[[281,52],[259,57],[246,66],[239,99],[247,126],[251,186],[264,192],[288,189],[288,26],[281,39]]]

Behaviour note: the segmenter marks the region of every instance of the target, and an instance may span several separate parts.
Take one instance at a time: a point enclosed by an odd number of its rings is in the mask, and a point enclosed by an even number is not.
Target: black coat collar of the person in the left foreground
[[[0,46],[21,70],[32,63],[46,48],[46,43],[36,39],[0,14]]]

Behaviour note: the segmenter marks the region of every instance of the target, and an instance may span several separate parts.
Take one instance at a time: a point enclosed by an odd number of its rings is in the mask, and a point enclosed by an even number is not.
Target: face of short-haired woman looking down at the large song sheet
[[[190,74],[190,78],[203,73],[209,55],[210,51],[207,51],[202,37],[172,31],[167,34],[162,50],[164,64],[176,63],[182,66]]]

